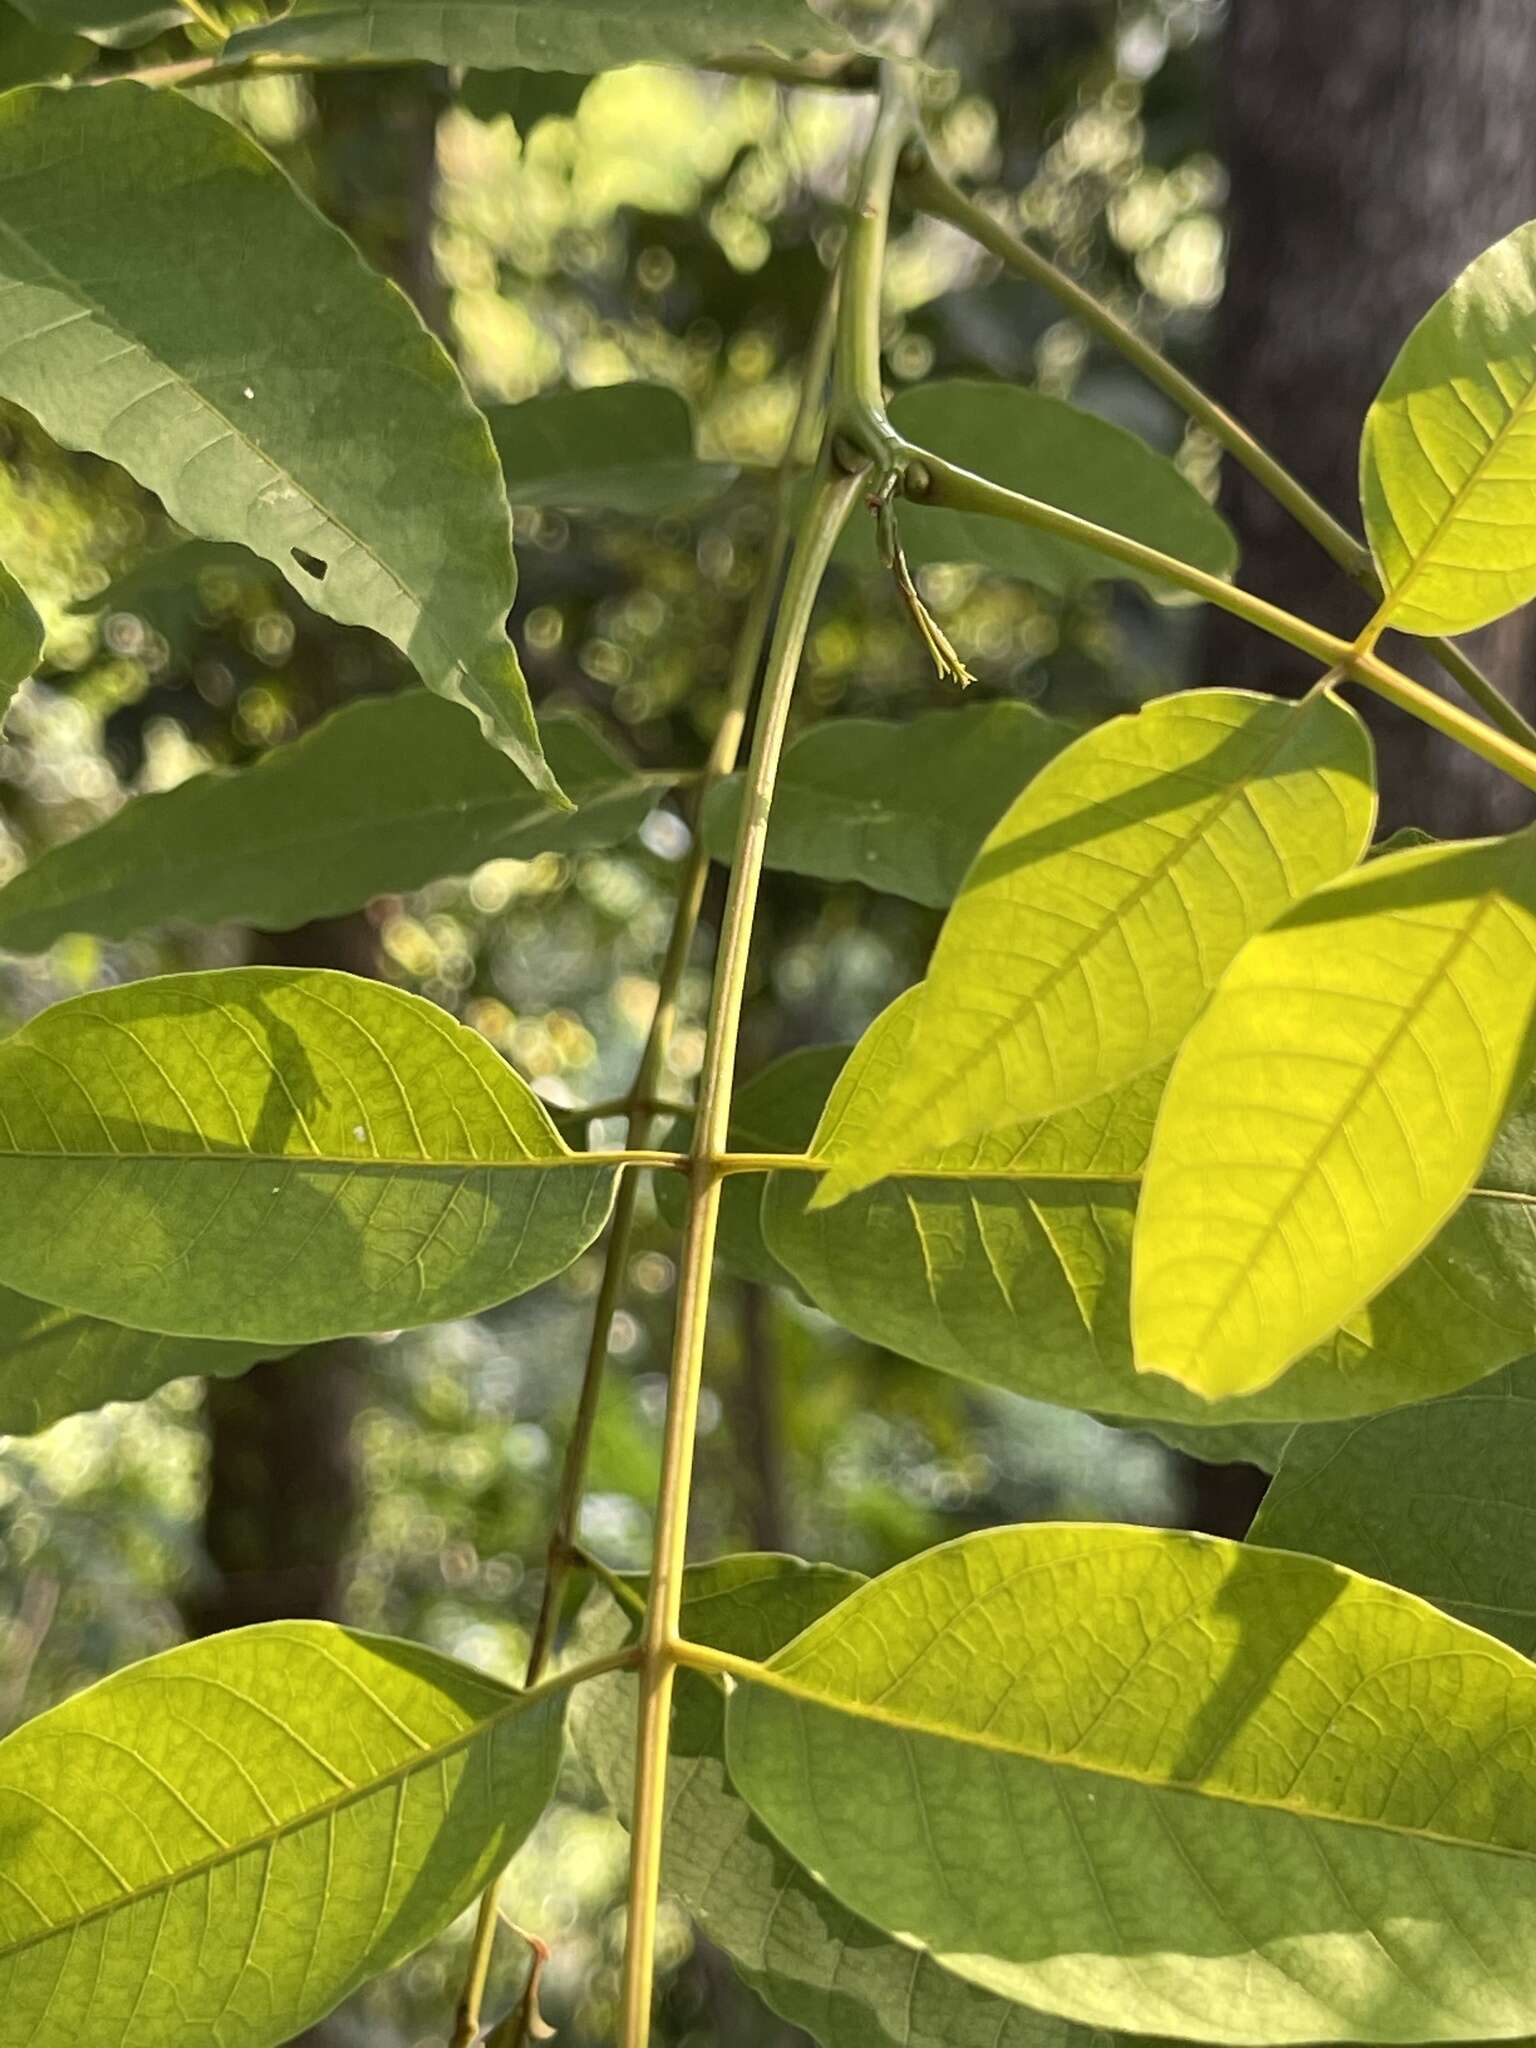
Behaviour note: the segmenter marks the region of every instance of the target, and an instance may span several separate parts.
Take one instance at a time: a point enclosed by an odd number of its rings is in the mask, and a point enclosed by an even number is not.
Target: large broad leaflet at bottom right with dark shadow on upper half
[[[739,1673],[731,1778],[852,1911],[1090,2025],[1536,2023],[1536,1669],[1315,1559],[989,1530]]]

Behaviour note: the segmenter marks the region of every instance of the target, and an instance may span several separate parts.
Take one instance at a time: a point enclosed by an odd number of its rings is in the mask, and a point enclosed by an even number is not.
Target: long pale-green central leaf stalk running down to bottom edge
[[[784,582],[762,686],[758,729],[752,741],[741,799],[741,823],[731,866],[731,889],[721,922],[721,946],[709,1012],[705,1073],[694,1122],[688,1227],[678,1272],[678,1321],[668,1380],[668,1415],[662,1446],[662,1481],[655,1507],[651,1585],[645,1606],[639,1667],[639,1720],[635,1741],[635,1802],[629,1860],[629,1931],[625,1944],[623,2048],[647,2048],[655,1980],[655,1911],[662,1884],[662,1827],[672,1737],[672,1686],[676,1677],[682,1571],[688,1542],[692,1446],[698,1386],[705,1364],[709,1282],[719,1223],[721,1176],[731,1118],[731,1085],[748,981],[752,926],[762,881],[768,813],[784,743],[795,676],[811,625],[815,594],[831,549],[858,500],[862,477],[823,475],[803,516]]]

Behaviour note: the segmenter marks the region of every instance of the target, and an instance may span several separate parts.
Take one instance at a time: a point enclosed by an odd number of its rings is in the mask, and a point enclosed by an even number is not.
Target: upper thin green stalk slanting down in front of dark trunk
[[[1004,227],[985,207],[967,199],[934,166],[926,147],[909,147],[903,154],[901,186],[913,207],[963,229],[1018,276],[1049,291],[1092,334],[1098,334],[1110,348],[1118,350],[1128,362],[1135,362],[1149,383],[1171,397],[1180,412],[1196,420],[1233,461],[1241,463],[1264,485],[1276,504],[1284,506],[1346,575],[1354,578],[1372,600],[1382,596],[1380,578],[1364,541],[1358,541],[1348,526],[1335,520],[1327,506],[1319,504],[1307,485],[1257,436],[1249,434],[1241,420],[1233,418],[1225,406],[1219,406],[1192,377],[1176,369],[1161,350],[1153,348],[1145,336],[1137,334],[1108,305],[1102,305],[1092,291],[1069,279],[1065,270],[1059,270],[1038,250],[1032,250],[1022,236]],[[1499,731],[1511,739],[1520,739],[1526,748],[1536,748],[1536,725],[1509,702],[1497,684],[1454,641],[1425,639],[1425,647]]]

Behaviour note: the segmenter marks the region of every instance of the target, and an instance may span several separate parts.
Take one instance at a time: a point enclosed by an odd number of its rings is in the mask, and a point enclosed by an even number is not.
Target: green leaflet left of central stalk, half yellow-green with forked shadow
[[[612,1188],[481,1036],[352,975],[135,981],[0,1042],[0,1282],[137,1329],[469,1315],[569,1266]]]

